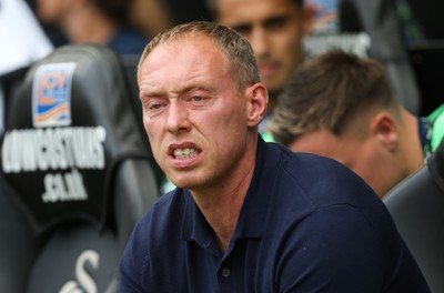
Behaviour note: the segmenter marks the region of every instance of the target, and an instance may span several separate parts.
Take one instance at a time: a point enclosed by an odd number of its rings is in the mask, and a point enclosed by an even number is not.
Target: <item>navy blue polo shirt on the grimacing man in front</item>
[[[225,253],[190,192],[176,189],[137,224],[120,270],[122,293],[430,292],[355,173],[262,139]]]

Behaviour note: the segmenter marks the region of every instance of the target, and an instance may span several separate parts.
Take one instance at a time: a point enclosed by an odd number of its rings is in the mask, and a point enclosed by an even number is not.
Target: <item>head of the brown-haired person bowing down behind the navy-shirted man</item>
[[[339,50],[296,70],[269,127],[276,142],[344,163],[380,195],[423,164],[417,119],[393,95],[384,68]]]

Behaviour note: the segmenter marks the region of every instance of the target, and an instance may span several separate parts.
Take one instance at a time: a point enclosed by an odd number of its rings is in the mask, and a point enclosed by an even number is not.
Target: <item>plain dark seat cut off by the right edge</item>
[[[444,140],[427,164],[383,201],[432,292],[444,292]]]

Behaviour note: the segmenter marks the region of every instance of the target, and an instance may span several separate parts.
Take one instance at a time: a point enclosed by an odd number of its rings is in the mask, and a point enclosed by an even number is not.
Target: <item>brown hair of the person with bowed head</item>
[[[300,135],[329,130],[341,135],[356,118],[371,109],[400,115],[385,70],[370,58],[340,50],[317,55],[301,64],[279,97],[269,123],[274,140],[290,145]]]

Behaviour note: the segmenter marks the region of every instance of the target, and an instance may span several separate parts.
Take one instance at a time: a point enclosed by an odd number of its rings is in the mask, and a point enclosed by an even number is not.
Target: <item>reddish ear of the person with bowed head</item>
[[[377,113],[371,120],[371,131],[376,140],[389,151],[393,152],[396,150],[400,140],[400,130],[395,119],[390,113]]]

